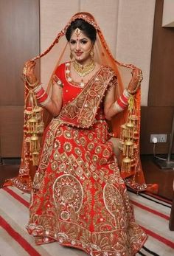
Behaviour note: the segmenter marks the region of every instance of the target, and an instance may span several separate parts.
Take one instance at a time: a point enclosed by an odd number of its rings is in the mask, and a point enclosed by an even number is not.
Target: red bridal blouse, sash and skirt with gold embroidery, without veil
[[[55,71],[63,108],[44,134],[27,230],[37,244],[58,241],[95,256],[134,255],[146,235],[134,221],[102,111],[105,91],[116,86],[114,71],[101,66],[80,89],[66,77],[69,65]]]

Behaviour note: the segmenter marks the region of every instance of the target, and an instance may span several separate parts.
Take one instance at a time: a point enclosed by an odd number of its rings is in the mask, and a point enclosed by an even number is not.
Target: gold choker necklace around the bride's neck
[[[90,73],[91,71],[94,70],[95,68],[95,63],[94,60],[91,60],[90,63],[86,64],[86,65],[81,65],[80,63],[77,62],[77,60],[74,60],[72,63],[73,69],[74,71],[80,75],[80,77],[85,77],[86,75],[88,75],[88,73]]]

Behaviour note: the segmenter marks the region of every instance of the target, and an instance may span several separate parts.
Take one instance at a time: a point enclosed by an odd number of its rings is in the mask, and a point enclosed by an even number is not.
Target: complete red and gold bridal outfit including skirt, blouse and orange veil
[[[97,30],[94,60],[101,65],[83,89],[71,81],[68,70],[70,52],[65,33],[76,18],[83,18]],[[140,88],[130,107],[111,121],[115,137],[121,134],[122,143],[127,142],[124,134],[128,128],[133,142],[131,150],[125,150],[133,153],[133,158],[130,161],[125,153],[126,161],[120,168],[102,100],[109,86],[115,86],[117,98],[128,83],[139,84],[140,70],[114,59],[100,27],[89,13],[75,14],[49,49],[32,60],[40,67],[42,82],[48,84],[47,92],[52,93],[53,74],[62,81],[63,108],[51,122],[45,111],[43,117],[25,80],[21,167],[12,181],[23,191],[32,190],[28,232],[38,244],[58,241],[94,256],[134,255],[146,235],[134,222],[125,184],[136,191],[147,189],[139,160]],[[39,153],[44,124],[44,142]],[[127,144],[129,148],[130,143]]]

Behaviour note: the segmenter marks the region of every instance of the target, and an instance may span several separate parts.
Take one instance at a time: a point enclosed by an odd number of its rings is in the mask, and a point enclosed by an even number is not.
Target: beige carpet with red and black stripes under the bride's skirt
[[[147,232],[145,246],[136,255],[173,256],[174,232],[170,231],[171,205],[160,199],[129,192],[136,222]],[[58,243],[35,246],[25,225],[29,218],[29,194],[15,187],[0,189],[0,256],[85,256],[77,249],[66,248]]]

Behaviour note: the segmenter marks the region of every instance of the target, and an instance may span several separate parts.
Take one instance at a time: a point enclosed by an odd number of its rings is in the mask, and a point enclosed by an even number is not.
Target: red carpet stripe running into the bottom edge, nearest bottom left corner
[[[19,243],[26,252],[31,256],[41,256],[30,244],[21,237],[8,223],[0,216],[0,226],[7,231],[7,233]]]

